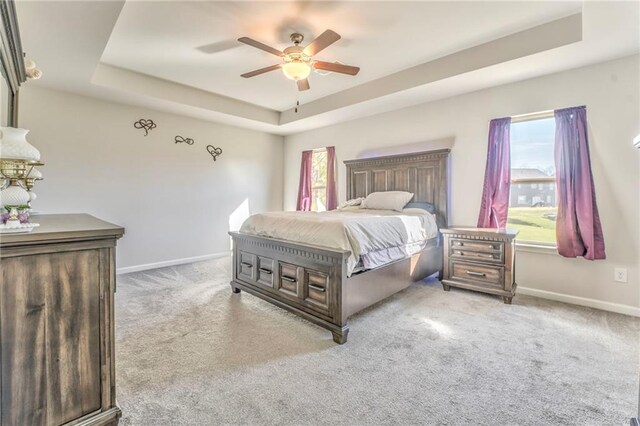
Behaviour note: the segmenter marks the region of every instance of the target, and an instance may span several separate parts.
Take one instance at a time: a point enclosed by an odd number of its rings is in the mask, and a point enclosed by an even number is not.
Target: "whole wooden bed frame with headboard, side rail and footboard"
[[[409,191],[413,202],[434,205],[447,226],[449,150],[345,161],[347,199],[371,192]],[[234,293],[245,290],[331,331],[347,341],[347,320],[412,283],[442,274],[440,238],[421,252],[347,278],[348,251],[240,232],[233,239]]]

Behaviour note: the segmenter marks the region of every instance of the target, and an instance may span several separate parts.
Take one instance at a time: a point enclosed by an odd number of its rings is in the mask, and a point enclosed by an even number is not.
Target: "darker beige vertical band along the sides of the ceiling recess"
[[[581,40],[582,13],[576,13],[325,96],[297,111],[291,108],[279,112],[105,63],[97,65],[91,83],[267,125],[272,132],[279,133],[295,131],[298,124],[312,118],[340,115],[341,111],[346,112],[357,104],[377,103],[406,90],[427,87]]]

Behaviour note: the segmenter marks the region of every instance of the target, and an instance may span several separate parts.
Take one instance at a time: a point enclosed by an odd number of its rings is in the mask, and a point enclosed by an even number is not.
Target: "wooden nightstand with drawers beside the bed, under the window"
[[[502,296],[510,304],[516,294],[513,229],[454,227],[444,237],[442,287],[466,288]]]

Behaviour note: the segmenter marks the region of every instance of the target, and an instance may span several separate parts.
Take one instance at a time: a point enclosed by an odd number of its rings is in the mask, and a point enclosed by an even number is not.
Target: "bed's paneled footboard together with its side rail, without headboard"
[[[244,290],[324,327],[339,344],[347,341],[351,315],[442,270],[436,239],[409,258],[347,278],[348,251],[229,234],[233,292]]]

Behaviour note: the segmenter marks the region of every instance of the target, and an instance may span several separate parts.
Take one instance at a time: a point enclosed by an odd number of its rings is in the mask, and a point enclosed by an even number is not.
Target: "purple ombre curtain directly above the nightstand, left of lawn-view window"
[[[489,123],[489,148],[478,228],[504,228],[507,225],[511,186],[510,126],[511,117],[496,118]]]

